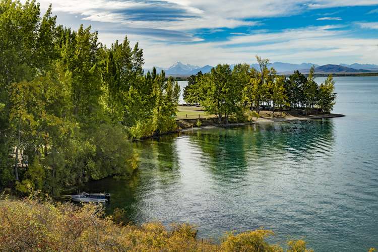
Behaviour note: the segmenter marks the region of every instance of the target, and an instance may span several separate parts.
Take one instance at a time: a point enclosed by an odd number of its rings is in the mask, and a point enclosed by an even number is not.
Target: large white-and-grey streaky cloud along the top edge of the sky
[[[50,0],[40,0],[47,6]],[[110,22],[132,27],[194,30],[201,28],[235,28],[255,26],[258,22],[248,18],[281,17],[298,14],[306,9],[321,9],[343,6],[378,5],[378,0],[54,0],[53,11],[81,14],[84,20]],[[162,20],[163,16],[147,20],[136,19],[132,10],[165,8],[177,17]],[[128,13],[122,11],[129,10]],[[146,13],[149,16],[150,13]],[[158,15],[157,13],[153,13]],[[139,16],[138,16],[139,17]],[[153,16],[154,17],[154,16]],[[336,19],[335,19],[336,20]]]

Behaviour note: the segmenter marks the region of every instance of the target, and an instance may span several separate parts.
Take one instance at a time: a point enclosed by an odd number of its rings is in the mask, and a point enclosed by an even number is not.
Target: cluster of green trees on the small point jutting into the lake
[[[191,76],[184,90],[185,101],[200,103],[209,114],[218,117],[218,123],[228,118],[236,121],[251,120],[249,111],[258,114],[262,108],[273,111],[281,109],[317,109],[330,113],[336,100],[334,81],[330,76],[322,85],[314,81],[314,67],[308,77],[295,71],[289,78],[269,69],[269,59],[256,56],[259,67],[247,64],[234,66],[218,65],[210,73]]]

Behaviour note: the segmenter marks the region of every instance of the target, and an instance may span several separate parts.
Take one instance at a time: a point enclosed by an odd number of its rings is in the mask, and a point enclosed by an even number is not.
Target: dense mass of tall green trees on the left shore
[[[127,37],[56,26],[51,6],[0,0],[0,187],[53,195],[136,168],[130,138],[176,129],[177,82],[143,73]],[[20,169],[22,167],[22,169]]]

